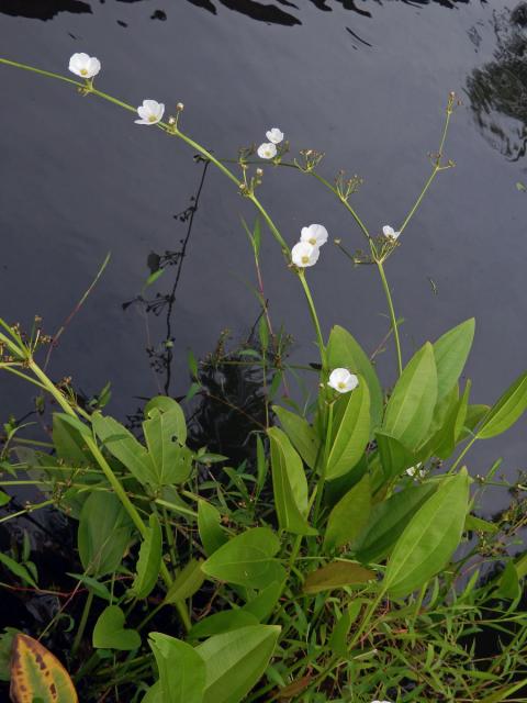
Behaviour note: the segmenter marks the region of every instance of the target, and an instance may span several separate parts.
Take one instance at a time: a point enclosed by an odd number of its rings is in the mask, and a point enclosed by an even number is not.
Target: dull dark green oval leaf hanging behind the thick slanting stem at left
[[[132,523],[113,493],[91,493],[80,513],[77,543],[89,576],[113,573],[121,566],[132,537]]]

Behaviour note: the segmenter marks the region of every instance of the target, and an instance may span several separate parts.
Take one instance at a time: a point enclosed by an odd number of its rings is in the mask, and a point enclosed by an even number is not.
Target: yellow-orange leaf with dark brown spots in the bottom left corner
[[[11,655],[13,703],[78,703],[68,672],[40,641],[19,633]]]

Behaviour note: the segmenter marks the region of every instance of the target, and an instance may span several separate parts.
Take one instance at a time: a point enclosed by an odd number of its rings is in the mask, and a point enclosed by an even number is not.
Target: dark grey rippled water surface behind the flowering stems
[[[186,104],[183,129],[216,154],[282,129],[293,152],[326,153],[321,171],[360,174],[355,204],[371,228],[400,224],[429,174],[448,92],[453,116],[440,174],[388,264],[404,353],[475,315],[468,372],[473,401],[492,402],[526,367],[527,11],[503,2],[373,0],[0,0],[1,55],[67,72],[74,52],[102,62],[101,90],[139,104]],[[109,412],[125,415],[158,391],[145,353],[144,315],[123,310],[148,275],[152,252],[178,249],[202,176],[192,152],[131,113],[58,82],[0,67],[1,315],[44,316],[54,332],[112,260],[54,352],[51,372],[87,393],[112,381]],[[360,235],[314,181],[266,168],[259,192],[288,242],[322,222],[354,249]],[[212,349],[225,327],[243,336],[258,314],[254,268],[239,213],[245,202],[210,169],[173,308],[172,393],[186,392],[187,349]],[[150,257],[152,263],[152,257]],[[264,279],[276,324],[294,336],[294,358],[315,359],[301,290],[265,238]],[[167,275],[168,276],[168,275]],[[171,276],[171,274],[170,274]],[[370,267],[354,269],[330,245],[309,271],[327,333],[343,324],[373,350],[385,303]],[[430,282],[430,279],[433,282]],[[168,280],[168,279],[167,279]],[[154,291],[167,289],[159,281]],[[152,317],[152,316],[150,316]],[[154,344],[166,334],[150,320]],[[380,373],[394,379],[393,355]],[[1,379],[2,420],[23,413],[27,389]],[[500,454],[513,478],[524,467],[525,422],[470,456],[483,472]],[[489,507],[495,507],[491,501]]]

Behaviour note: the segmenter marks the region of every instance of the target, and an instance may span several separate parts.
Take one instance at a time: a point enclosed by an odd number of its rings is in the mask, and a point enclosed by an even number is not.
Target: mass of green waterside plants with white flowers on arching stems
[[[74,72],[87,70],[85,82],[0,63],[137,112],[138,122],[180,138],[223,172],[253,202],[304,291],[319,376],[312,402],[288,394],[271,404],[285,372],[298,370],[284,362],[261,298],[259,345],[246,352],[262,369],[265,423],[249,438],[256,459],[233,467],[206,446],[189,446],[183,410],[167,395],[146,403],[138,436],[101,404],[82,406],[71,383],[55,383],[37,361],[53,343],[42,321],[23,334],[0,320],[0,368],[36,387],[53,411],[48,445],[23,437],[22,426],[8,428],[2,469],[10,478],[0,484],[38,487],[45,500],[1,520],[53,505],[77,526],[79,571],[71,578],[74,594],[86,600],[65,663],[81,699],[109,700],[114,691],[115,700],[145,703],[525,700],[513,696],[527,684],[520,605],[527,558],[507,554],[527,522],[525,483],[520,477],[509,487],[506,513],[484,521],[474,514],[476,501],[483,489],[504,484],[495,480],[500,462],[471,478],[463,460],[475,442],[522,416],[527,373],[494,404],[471,403],[471,383],[462,387],[460,379],[473,320],[425,342],[404,364],[384,271],[435,177],[452,166],[444,145],[456,97],[449,96],[431,174],[408,215],[397,231],[384,225],[372,236],[349,202],[360,179],[339,174],[332,185],[317,170],[322,154],[309,149],[287,163],[289,144],[273,127],[269,143],[240,150],[235,174],[181,131],[181,103],[167,122],[157,101],[136,111],[94,88],[93,60],[74,62]],[[262,169],[256,161],[250,170],[255,153],[316,178],[359,226],[367,253],[337,245],[380,275],[399,371],[388,392],[348,331],[334,326],[324,338],[305,269],[316,264],[327,232],[304,227],[289,248],[256,196]],[[259,225],[247,234],[259,271]],[[195,359],[190,370],[195,392],[202,383]],[[29,556],[0,559],[13,578],[38,590]],[[496,565],[502,568],[487,568]],[[38,635],[58,627],[57,615]],[[487,654],[479,651],[484,631],[496,633]],[[3,648],[13,639],[36,651],[12,628]],[[19,691],[46,676],[46,667],[40,672],[26,659],[25,669],[16,656],[5,662],[16,676],[13,701],[25,701]],[[70,701],[70,682],[54,666],[67,691],[54,700]],[[41,683],[32,689],[40,698]]]

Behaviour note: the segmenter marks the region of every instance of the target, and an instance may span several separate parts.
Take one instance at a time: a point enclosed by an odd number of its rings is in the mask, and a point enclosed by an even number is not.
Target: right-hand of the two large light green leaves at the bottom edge
[[[203,703],[240,703],[264,674],[279,635],[278,626],[253,625],[197,647],[206,667]]]

